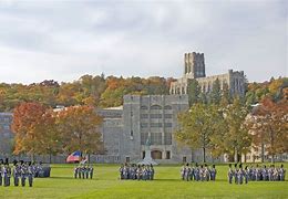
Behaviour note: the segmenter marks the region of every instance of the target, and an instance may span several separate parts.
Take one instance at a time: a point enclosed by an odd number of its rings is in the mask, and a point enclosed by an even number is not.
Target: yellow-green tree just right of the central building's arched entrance
[[[223,114],[216,106],[195,104],[189,111],[178,116],[179,129],[176,132],[176,139],[192,149],[202,148],[203,161],[206,161],[207,149],[217,149],[213,154],[217,157],[223,150],[219,148],[215,135],[224,130]],[[213,143],[213,140],[215,140]]]

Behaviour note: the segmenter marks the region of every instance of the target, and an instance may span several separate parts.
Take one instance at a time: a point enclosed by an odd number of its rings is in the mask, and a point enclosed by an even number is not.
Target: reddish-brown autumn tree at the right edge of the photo
[[[261,160],[265,150],[271,156],[288,151],[288,103],[287,100],[275,103],[270,97],[261,101],[253,109],[251,118],[247,124],[253,134],[253,143],[261,148]]]

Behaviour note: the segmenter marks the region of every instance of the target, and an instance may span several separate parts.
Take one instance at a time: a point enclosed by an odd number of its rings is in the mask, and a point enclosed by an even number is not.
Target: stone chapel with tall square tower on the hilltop
[[[192,78],[197,80],[200,91],[204,93],[209,93],[213,88],[214,81],[218,78],[220,88],[227,84],[232,95],[243,96],[245,94],[246,78],[243,71],[229,70],[228,73],[225,74],[206,76],[203,53],[185,53],[184,76],[171,84],[169,93],[172,95],[187,94],[188,81]]]

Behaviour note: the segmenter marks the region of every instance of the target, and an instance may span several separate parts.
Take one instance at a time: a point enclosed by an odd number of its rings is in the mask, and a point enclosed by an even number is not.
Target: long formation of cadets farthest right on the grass
[[[284,165],[280,167],[275,167],[275,165],[270,165],[270,167],[256,167],[246,166],[243,169],[241,164],[239,168],[237,168],[237,164],[235,164],[235,169],[232,168],[232,164],[229,165],[228,170],[228,181],[233,184],[235,181],[236,185],[248,184],[248,181],[285,181],[285,168]],[[234,180],[233,180],[234,178]]]

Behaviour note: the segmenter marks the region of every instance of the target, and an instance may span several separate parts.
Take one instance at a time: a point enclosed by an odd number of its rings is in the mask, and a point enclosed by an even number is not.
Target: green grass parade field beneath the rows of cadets
[[[0,198],[288,198],[287,179],[229,185],[227,165],[216,166],[215,182],[182,181],[181,166],[156,166],[154,181],[119,180],[119,165],[94,168],[94,179],[74,179],[73,165],[53,165],[51,178],[37,178],[32,188],[0,187]]]

